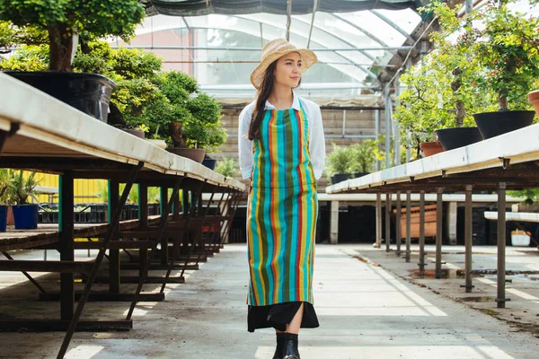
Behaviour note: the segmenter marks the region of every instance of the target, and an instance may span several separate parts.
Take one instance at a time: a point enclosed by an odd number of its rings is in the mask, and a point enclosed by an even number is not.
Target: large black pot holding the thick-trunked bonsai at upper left
[[[110,94],[116,83],[101,74],[6,71],[23,83],[107,122]]]

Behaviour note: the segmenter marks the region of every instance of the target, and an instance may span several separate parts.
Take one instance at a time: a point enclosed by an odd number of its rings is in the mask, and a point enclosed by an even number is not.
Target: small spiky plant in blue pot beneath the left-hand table
[[[13,217],[16,230],[32,230],[38,228],[38,205],[29,204],[28,197],[35,193],[39,181],[36,173],[31,172],[26,178],[23,171],[13,171],[9,192],[15,205]]]

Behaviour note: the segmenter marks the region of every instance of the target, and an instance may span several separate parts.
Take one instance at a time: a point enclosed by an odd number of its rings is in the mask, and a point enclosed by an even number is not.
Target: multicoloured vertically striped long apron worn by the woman
[[[253,140],[247,304],[313,303],[318,195],[308,118],[303,107],[265,111],[261,138]]]

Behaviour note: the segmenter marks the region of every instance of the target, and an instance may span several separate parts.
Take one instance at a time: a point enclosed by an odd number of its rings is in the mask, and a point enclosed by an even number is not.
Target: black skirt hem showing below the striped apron
[[[287,330],[302,302],[284,302],[273,305],[254,306],[249,305],[247,310],[247,330],[276,328],[280,331]],[[301,320],[301,328],[318,328],[318,318],[314,306],[310,302],[304,303],[304,314]]]

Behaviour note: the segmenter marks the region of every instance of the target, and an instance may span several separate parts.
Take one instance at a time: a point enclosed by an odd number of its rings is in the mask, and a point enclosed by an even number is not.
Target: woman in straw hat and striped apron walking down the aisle
[[[322,114],[292,91],[316,62],[286,39],[262,48],[251,74],[256,101],[239,118],[243,179],[250,179],[248,330],[275,328],[274,359],[299,359],[299,328],[317,328],[313,307],[316,180],[325,162]]]

